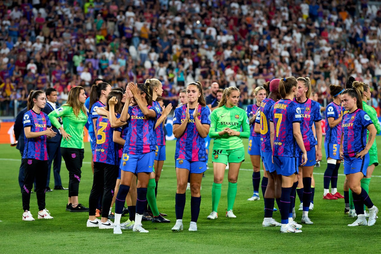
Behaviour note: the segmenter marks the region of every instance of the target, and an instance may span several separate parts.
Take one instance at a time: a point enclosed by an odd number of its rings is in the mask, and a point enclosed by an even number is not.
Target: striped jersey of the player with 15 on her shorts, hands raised
[[[143,154],[156,150],[155,124],[160,114],[160,109],[154,106],[147,106],[156,113],[155,117],[144,116],[139,106],[128,108],[128,131],[123,153]]]

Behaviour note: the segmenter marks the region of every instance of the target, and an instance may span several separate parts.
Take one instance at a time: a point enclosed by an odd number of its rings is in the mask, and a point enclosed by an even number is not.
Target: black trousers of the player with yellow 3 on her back
[[[102,217],[107,218],[114,196],[114,188],[117,182],[119,166],[94,162],[93,188],[89,196],[89,215],[95,215],[99,196],[102,198]]]

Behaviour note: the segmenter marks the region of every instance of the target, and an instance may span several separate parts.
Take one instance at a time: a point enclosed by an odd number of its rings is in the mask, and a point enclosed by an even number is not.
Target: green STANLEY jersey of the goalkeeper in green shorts
[[[240,132],[242,126],[242,132]],[[225,128],[240,132],[239,137],[218,133]],[[213,150],[232,150],[243,147],[242,138],[249,138],[250,126],[246,111],[234,106],[227,108],[222,106],[213,110],[210,120],[209,137],[215,138]]]

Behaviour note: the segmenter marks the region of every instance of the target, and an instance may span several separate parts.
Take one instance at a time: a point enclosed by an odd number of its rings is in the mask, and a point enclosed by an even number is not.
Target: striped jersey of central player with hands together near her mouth
[[[173,125],[181,124],[186,117],[187,104],[174,110]],[[195,109],[189,109],[191,118],[187,123],[187,127],[176,141],[175,159],[186,159],[188,161],[206,161],[207,151],[205,148],[205,140],[197,131],[193,118]],[[207,107],[199,105],[197,109],[197,117],[201,124],[210,125],[210,110]]]

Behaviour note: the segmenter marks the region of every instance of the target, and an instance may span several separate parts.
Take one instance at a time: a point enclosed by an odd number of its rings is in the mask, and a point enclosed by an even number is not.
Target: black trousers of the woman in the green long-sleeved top
[[[61,154],[62,158],[64,158],[66,169],[69,171],[69,198],[78,196],[84,150],[61,147]]]

